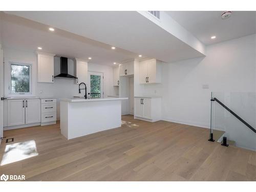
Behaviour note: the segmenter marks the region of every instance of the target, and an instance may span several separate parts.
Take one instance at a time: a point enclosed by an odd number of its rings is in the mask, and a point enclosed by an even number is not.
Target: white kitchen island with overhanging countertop
[[[60,130],[67,139],[121,126],[121,100],[128,98],[60,99]]]

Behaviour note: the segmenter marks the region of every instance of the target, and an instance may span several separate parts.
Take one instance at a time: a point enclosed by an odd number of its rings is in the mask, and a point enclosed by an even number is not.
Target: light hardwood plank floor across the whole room
[[[256,152],[209,142],[207,129],[122,120],[117,129],[72,140],[59,124],[5,131],[14,143],[34,140],[38,155],[0,166],[0,173],[28,181],[256,181]]]

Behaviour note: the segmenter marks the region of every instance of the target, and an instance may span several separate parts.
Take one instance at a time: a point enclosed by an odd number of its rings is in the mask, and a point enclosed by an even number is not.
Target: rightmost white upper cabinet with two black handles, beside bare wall
[[[161,63],[156,59],[140,62],[140,83],[161,83]]]

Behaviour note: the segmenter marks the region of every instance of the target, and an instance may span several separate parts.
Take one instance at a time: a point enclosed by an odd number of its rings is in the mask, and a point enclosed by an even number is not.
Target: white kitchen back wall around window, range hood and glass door
[[[67,98],[73,96],[83,96],[84,93],[78,93],[78,85],[74,84],[73,79],[54,79],[54,83],[41,83],[37,82],[37,55],[33,51],[16,50],[13,48],[4,47],[4,57],[8,60],[15,61],[28,61],[33,64],[32,66],[32,78],[34,79],[34,86],[32,91],[34,96],[37,97],[56,97]],[[74,62],[68,59],[69,73],[74,74],[73,68]],[[88,70],[94,72],[101,72],[104,74],[103,91],[104,97],[107,95],[114,95],[113,86],[113,68],[109,66],[97,65],[94,63],[88,63]],[[54,58],[54,75],[59,74],[59,58]],[[59,102],[57,101],[57,119],[59,119]]]

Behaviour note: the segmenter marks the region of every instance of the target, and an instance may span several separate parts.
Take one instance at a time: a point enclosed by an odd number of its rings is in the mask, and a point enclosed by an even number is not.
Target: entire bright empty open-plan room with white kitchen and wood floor
[[[1,183],[255,182],[256,11],[218,10],[0,10]]]

